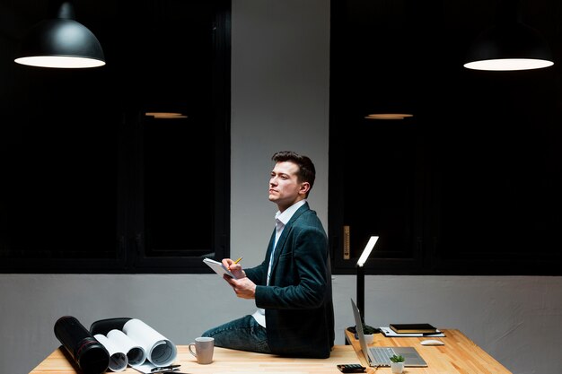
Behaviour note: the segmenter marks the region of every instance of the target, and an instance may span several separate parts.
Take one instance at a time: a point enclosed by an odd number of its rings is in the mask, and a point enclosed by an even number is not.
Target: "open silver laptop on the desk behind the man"
[[[391,366],[390,357],[393,354],[399,354],[404,357],[405,367],[423,367],[427,366],[427,362],[419,355],[414,347],[370,347],[363,334],[363,321],[361,321],[361,314],[357,309],[356,303],[351,299],[351,309],[353,309],[353,317],[356,320],[356,332],[361,344],[361,352],[363,352],[364,359],[372,367]]]

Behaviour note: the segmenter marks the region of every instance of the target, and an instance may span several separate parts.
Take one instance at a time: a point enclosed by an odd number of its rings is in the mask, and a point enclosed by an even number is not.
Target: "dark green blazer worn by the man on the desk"
[[[294,213],[277,242],[266,286],[274,241],[275,230],[264,261],[244,270],[257,284],[256,306],[266,309],[269,348],[279,355],[328,358],[334,346],[334,306],[322,223],[308,203]]]

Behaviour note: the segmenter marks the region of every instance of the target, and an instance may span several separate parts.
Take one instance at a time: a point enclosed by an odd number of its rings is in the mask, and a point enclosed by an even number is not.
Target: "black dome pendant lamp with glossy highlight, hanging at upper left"
[[[73,5],[61,4],[57,18],[41,21],[29,30],[14,61],[22,65],[59,68],[105,65],[100,41],[74,18]]]

